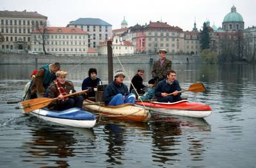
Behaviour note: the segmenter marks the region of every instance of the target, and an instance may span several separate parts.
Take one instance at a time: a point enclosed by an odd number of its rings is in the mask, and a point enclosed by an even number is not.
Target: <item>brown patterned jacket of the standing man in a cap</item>
[[[154,61],[152,77],[159,77],[158,81],[166,78],[167,71],[172,70],[172,61],[169,59],[165,59],[163,65],[161,66],[160,59],[158,61]]]

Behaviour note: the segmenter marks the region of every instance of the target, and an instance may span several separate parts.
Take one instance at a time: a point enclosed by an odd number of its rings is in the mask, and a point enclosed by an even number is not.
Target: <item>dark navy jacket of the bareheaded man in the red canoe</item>
[[[173,93],[173,91],[181,91],[180,84],[178,80],[174,80],[172,84],[168,84],[166,82],[167,79],[161,80],[156,88],[155,88],[155,95],[158,97],[162,97],[161,93]],[[179,93],[177,96],[180,96],[181,93]]]

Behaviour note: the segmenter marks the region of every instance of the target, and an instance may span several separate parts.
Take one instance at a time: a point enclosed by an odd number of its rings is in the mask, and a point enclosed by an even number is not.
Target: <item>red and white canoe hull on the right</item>
[[[143,103],[138,102],[136,105],[138,105],[138,107],[142,107]],[[212,113],[209,105],[205,105],[204,103],[189,102],[188,100],[182,100],[175,103],[144,102],[144,105],[150,112],[159,114],[206,118]]]

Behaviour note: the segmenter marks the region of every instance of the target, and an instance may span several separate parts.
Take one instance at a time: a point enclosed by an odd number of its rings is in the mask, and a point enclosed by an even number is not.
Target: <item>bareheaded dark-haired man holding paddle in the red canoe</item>
[[[176,72],[170,70],[167,72],[166,79],[161,80],[156,88],[155,95],[158,102],[177,102],[181,100],[180,84],[176,78]],[[172,94],[172,95],[171,95]]]

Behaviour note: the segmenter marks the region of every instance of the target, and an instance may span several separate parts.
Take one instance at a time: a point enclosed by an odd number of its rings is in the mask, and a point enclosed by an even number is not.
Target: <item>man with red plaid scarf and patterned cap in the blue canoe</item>
[[[63,96],[75,93],[76,90],[74,89],[74,85],[71,81],[68,81],[66,79],[67,72],[65,71],[58,71],[56,72],[56,82],[54,84],[51,84],[49,86],[49,98],[56,98],[58,97],[59,100],[51,102],[48,105],[48,108],[50,110],[56,110],[56,111],[63,111],[65,109],[70,109],[72,107],[78,107],[82,108],[84,98],[83,96],[70,96],[67,98],[64,98]]]

